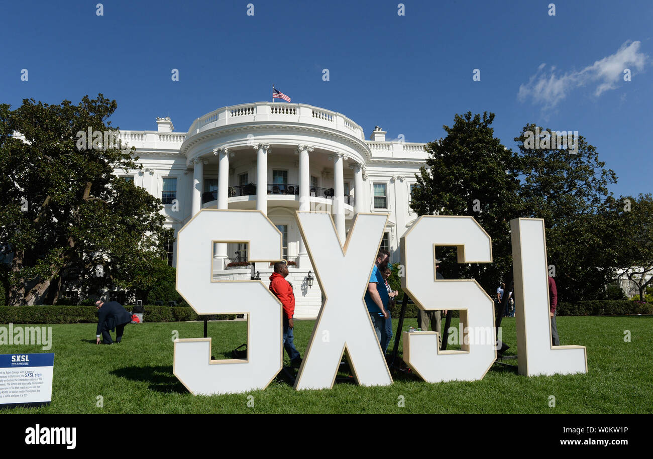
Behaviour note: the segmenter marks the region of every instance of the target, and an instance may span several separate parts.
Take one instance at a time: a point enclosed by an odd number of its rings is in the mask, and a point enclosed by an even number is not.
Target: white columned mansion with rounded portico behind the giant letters
[[[175,234],[202,208],[264,212],[283,234],[295,317],[317,317],[321,305],[317,281],[306,282],[314,270],[296,210],[330,212],[343,241],[355,213],[389,214],[382,247],[399,261],[399,238],[417,218],[409,199],[415,173],[426,165],[424,143],[386,141],[378,126],[366,139],[352,119],[306,104],[223,107],[187,132],[175,132],[170,118],[156,122],[157,131],[120,131],[144,170],[115,173],[161,198]],[[176,264],[175,244],[167,258]],[[245,244],[215,245],[214,279],[249,279],[251,272]],[[256,263],[254,272],[267,281],[272,267]]]

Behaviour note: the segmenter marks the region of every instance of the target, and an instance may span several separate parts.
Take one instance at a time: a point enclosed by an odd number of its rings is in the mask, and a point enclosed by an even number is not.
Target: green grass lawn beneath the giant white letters
[[[394,321],[396,326],[396,320]],[[302,356],[314,321],[295,321]],[[416,326],[406,319],[404,330]],[[517,351],[515,319],[503,319],[503,341]],[[457,326],[454,319],[452,326]],[[172,331],[202,336],[202,323],[144,323],[125,328],[119,345],[95,345],[94,324],[52,326],[50,351],[40,346],[0,346],[0,353],[54,352],[52,404],[0,413],[652,413],[653,316],[558,317],[560,343],[584,345],[585,375],[524,377],[517,368],[492,366],[482,381],[430,384],[394,375],[390,387],[336,383],[331,390],[296,392],[278,377],[247,396],[193,396],[172,375]],[[630,330],[631,342],[624,342]],[[215,358],[246,340],[246,323],[209,323]],[[392,345],[391,345],[392,347]],[[511,354],[510,349],[508,355]],[[400,348],[401,351],[401,348]],[[284,353],[285,362],[287,356]],[[515,365],[516,360],[513,360]],[[549,396],[556,407],[549,407]],[[104,407],[97,407],[97,397]],[[405,407],[398,407],[400,396]]]

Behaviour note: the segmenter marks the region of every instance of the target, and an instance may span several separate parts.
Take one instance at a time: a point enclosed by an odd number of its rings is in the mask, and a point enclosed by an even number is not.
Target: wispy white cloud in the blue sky
[[[551,67],[549,72],[545,71],[546,64],[543,63],[527,84],[519,86],[517,98],[521,102],[531,99],[533,103],[542,105],[544,110],[550,110],[577,87],[596,85],[594,95],[599,97],[623,81],[624,69],[634,73],[634,70],[643,70],[650,62],[648,55],[639,52],[640,45],[639,41],[627,41],[616,53],[603,57],[581,71],[569,71],[562,75],[556,74],[556,67]]]

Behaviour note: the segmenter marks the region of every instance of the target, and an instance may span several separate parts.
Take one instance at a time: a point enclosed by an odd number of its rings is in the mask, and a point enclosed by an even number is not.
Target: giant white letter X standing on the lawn
[[[333,387],[345,349],[359,384],[392,384],[364,302],[387,215],[358,214],[343,247],[330,215],[296,214],[324,301],[295,388]]]

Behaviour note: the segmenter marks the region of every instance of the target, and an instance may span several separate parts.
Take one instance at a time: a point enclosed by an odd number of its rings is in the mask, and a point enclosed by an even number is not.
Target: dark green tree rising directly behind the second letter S
[[[490,127],[494,114],[456,114],[445,138],[430,142],[426,167],[413,188],[419,215],[471,215],[492,238],[492,264],[458,264],[456,252],[436,249],[447,278],[474,278],[490,294],[511,276],[510,220],[521,216],[520,161]]]

